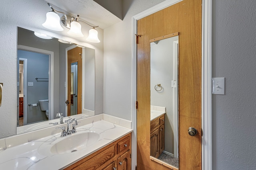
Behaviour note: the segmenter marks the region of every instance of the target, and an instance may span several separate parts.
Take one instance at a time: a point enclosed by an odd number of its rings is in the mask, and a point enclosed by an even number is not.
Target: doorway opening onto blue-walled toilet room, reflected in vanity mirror
[[[42,110],[39,100],[49,100],[49,59],[50,56],[46,54],[18,50],[18,63],[23,61],[23,69],[19,64],[18,77],[21,75],[21,78],[18,79],[20,82],[18,101],[20,108],[17,115],[23,117],[23,125],[48,120],[46,115],[46,111],[49,113],[48,101],[46,103],[48,107]],[[22,108],[23,115],[20,113]],[[19,123],[19,126],[21,125],[22,123]]]

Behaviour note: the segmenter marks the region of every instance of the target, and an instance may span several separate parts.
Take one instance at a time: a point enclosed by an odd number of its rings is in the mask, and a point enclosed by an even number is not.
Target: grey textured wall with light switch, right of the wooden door
[[[226,78],[212,96],[213,170],[255,170],[256,1],[212,2],[212,76]]]

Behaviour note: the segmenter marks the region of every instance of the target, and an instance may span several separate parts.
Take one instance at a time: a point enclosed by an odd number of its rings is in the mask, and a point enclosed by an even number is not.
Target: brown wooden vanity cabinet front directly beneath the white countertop
[[[65,170],[131,170],[131,133]]]

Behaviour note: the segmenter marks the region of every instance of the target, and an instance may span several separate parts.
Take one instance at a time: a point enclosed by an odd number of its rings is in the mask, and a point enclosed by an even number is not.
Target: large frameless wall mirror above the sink
[[[95,50],[47,37],[18,27],[17,134],[94,115]]]

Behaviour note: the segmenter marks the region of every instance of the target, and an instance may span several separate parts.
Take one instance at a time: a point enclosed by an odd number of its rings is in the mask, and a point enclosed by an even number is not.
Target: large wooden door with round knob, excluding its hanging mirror
[[[137,22],[137,169],[169,170],[150,160],[150,39],[179,33],[179,168],[201,170],[202,1],[183,0]],[[188,135],[195,127],[198,134]]]

